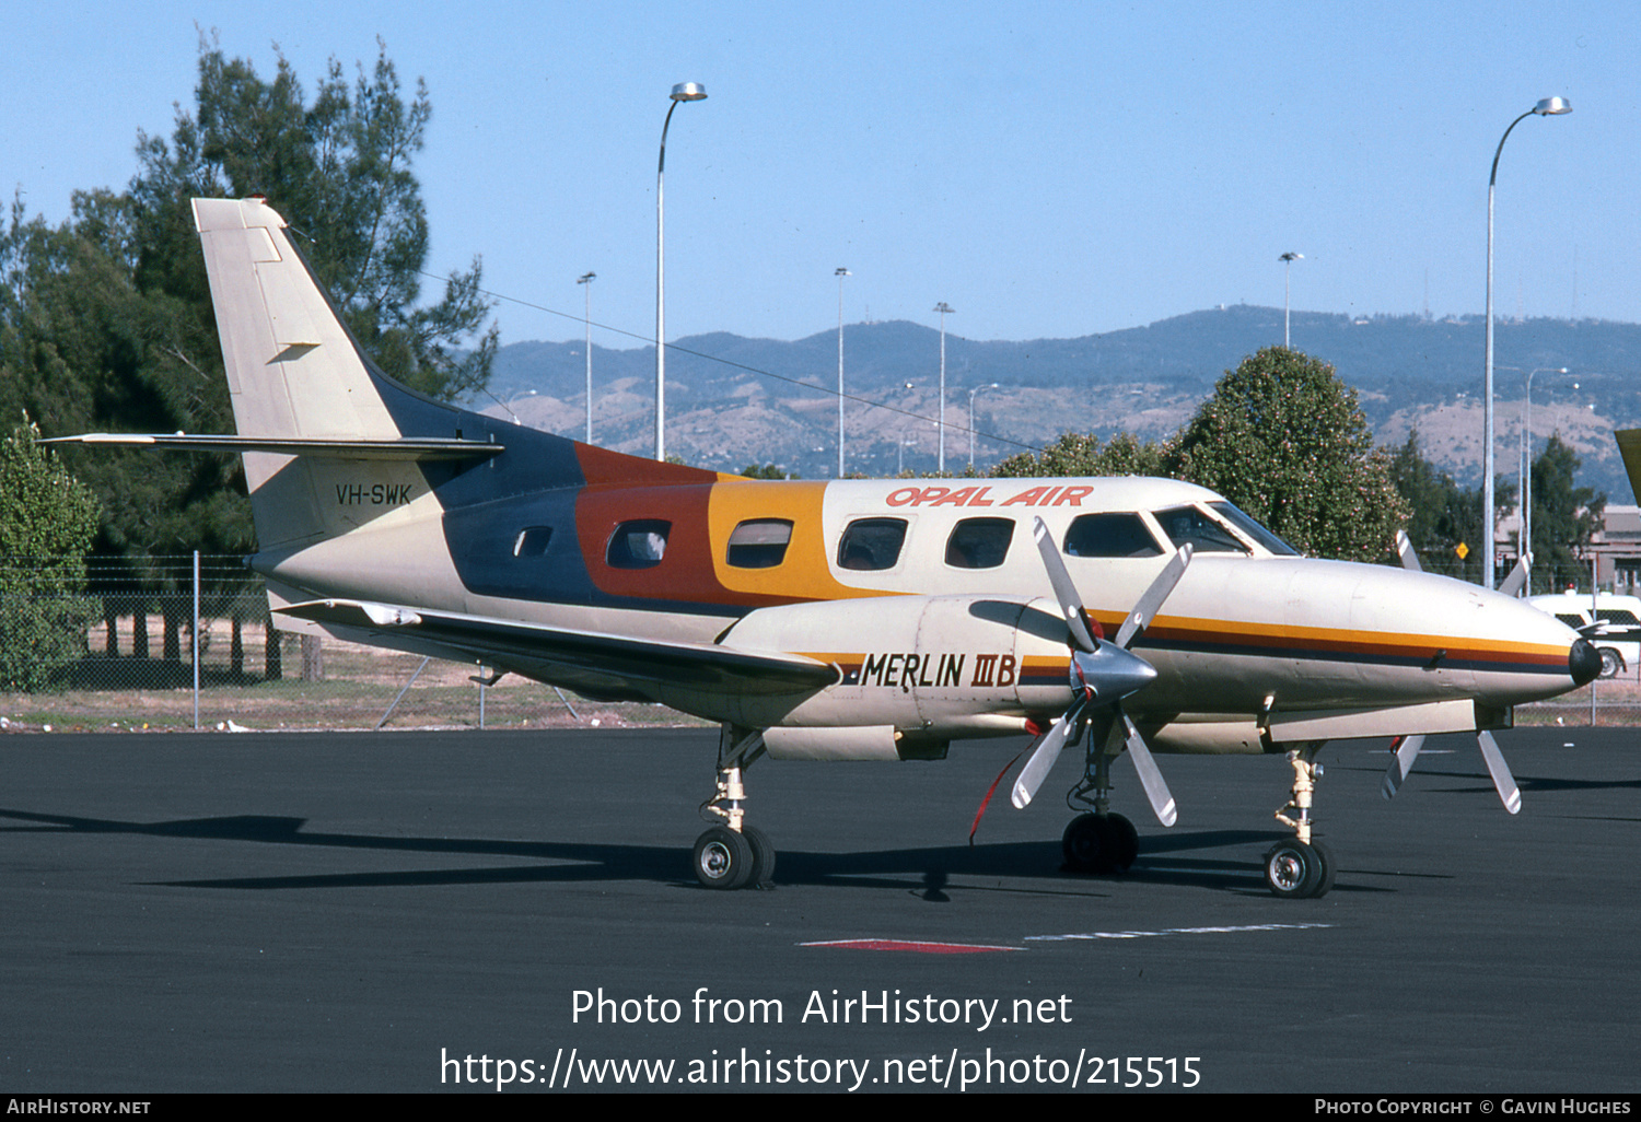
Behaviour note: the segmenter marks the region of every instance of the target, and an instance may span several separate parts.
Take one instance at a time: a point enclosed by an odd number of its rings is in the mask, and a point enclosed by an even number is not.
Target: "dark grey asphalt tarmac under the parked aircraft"
[[[1119,761],[1121,878],[1072,753],[973,848],[1019,741],[760,761],[776,884],[712,892],[712,732],[0,737],[0,1091],[1633,1092],[1638,733],[1498,741],[1518,817],[1470,738],[1390,804],[1329,746],[1278,901],[1280,756],[1159,756],[1172,830]]]

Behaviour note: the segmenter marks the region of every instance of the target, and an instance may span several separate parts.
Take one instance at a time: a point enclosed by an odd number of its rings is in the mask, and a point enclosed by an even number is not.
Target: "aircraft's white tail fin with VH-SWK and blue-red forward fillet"
[[[289,554],[366,525],[437,525],[448,510],[502,494],[715,479],[405,389],[363,354],[290,241],[286,220],[263,198],[195,198],[194,223],[238,428],[233,446],[245,454],[263,553]],[[154,443],[202,446],[207,440]],[[486,471],[476,472],[481,463]]]

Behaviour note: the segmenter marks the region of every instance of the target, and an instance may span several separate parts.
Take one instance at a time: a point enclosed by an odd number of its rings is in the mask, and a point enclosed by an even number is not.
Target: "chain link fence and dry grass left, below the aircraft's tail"
[[[36,659],[28,681],[7,676],[0,727],[54,730],[542,728],[699,723],[661,705],[591,702],[515,676],[402,654],[269,625],[263,577],[240,558],[94,559],[84,592],[23,595],[7,576],[31,571],[0,558],[5,612],[71,632],[41,666],[25,636],[13,658]],[[199,620],[195,623],[195,618]],[[61,638],[61,636],[59,636]],[[3,666],[3,663],[0,663]],[[3,674],[3,669],[0,669]]]

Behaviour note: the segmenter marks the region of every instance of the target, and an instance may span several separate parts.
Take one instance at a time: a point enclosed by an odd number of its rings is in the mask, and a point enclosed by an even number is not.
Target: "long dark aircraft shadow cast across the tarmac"
[[[279,815],[230,815],[176,822],[121,822],[0,809],[0,819],[31,825],[0,827],[0,833],[130,833],[158,838],[258,842],[399,853],[491,855],[551,864],[486,868],[397,869],[318,873],[304,876],[241,876],[194,881],[151,881],[166,887],[195,889],[335,889],[415,887],[435,884],[530,884],[653,881],[699,887],[689,876],[688,846],[601,845],[587,842],[514,842],[487,838],[405,838],[364,833],[305,833],[305,819]],[[1180,856],[1185,851],[1257,848],[1288,837],[1282,830],[1200,830],[1149,837],[1134,868],[1118,878],[1062,869],[1057,842],[1003,842],[904,850],[816,853],[783,850],[775,886],[832,886],[911,891],[930,902],[945,902],[948,891],[1006,891],[1029,894],[1090,896],[1114,879],[1203,887],[1237,894],[1265,894],[1257,856]],[[953,884],[952,878],[965,878]],[[993,884],[971,879],[996,879]],[[706,891],[706,889],[702,889]],[[1388,891],[1341,883],[1336,891]]]

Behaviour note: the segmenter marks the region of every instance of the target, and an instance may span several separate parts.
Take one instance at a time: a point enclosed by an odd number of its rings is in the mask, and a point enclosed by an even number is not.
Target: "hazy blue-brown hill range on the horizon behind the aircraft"
[[[1580,484],[1631,502],[1613,428],[1641,423],[1641,325],[1495,320],[1497,459],[1513,476],[1523,389],[1533,431],[1559,431],[1584,458]],[[1426,454],[1460,482],[1480,477],[1480,317],[1293,313],[1293,346],[1332,363],[1357,390],[1380,441],[1419,430]],[[975,397],[976,463],[1040,446],[1062,431],[1172,435],[1226,371],[1282,340],[1282,308],[1221,307],[1075,340],[978,341],[947,333],[947,468],[968,461]],[[893,474],[935,463],[939,331],[919,323],[843,328],[848,469]],[[581,340],[514,343],[497,356],[492,394],[523,423],[583,436]],[[1570,374],[1561,376],[1559,367]],[[655,441],[655,349],[592,348],[594,440],[647,454]],[[737,471],[778,463],[819,479],[837,466],[837,333],[802,340],[689,336],[668,349],[668,451]],[[907,387],[907,382],[911,384]],[[998,382],[999,389],[990,389]],[[1577,384],[1577,389],[1574,385]],[[501,413],[497,400],[476,405]]]

